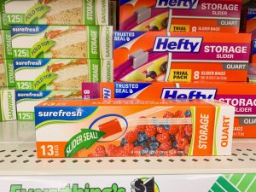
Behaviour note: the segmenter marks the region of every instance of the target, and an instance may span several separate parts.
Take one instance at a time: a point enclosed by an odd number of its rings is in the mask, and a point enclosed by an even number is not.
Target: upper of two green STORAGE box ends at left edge
[[[1,20],[1,17],[0,17]],[[0,30],[0,59],[12,59],[12,39],[9,30]]]

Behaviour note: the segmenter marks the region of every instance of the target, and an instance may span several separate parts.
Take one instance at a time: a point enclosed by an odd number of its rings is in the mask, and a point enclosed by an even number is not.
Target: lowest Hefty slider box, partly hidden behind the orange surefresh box
[[[256,138],[256,84],[84,83],[83,98],[217,99],[236,107],[234,137]]]

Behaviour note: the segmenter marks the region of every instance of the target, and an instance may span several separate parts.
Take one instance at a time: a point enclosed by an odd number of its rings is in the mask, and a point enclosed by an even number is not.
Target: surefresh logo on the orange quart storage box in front
[[[82,110],[78,109],[76,111],[40,111],[38,112],[38,117],[81,117]]]

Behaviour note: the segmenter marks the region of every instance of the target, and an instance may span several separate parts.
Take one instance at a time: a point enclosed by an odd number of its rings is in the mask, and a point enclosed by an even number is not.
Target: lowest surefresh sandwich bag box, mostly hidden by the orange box
[[[48,99],[81,98],[81,90],[16,90],[17,119],[33,121],[34,107]]]

